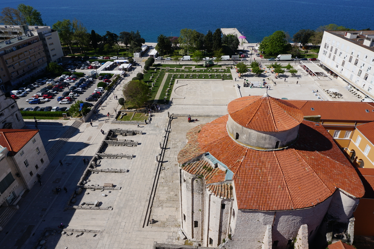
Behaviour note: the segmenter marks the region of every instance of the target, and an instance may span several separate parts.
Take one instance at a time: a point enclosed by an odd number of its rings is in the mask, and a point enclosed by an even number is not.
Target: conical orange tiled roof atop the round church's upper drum
[[[303,113],[293,105],[270,96],[246,96],[227,105],[230,117],[243,127],[256,131],[285,131],[299,125]]]

